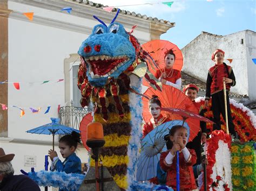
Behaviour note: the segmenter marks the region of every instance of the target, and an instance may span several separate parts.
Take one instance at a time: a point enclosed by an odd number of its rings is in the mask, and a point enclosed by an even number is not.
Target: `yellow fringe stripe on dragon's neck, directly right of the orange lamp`
[[[106,146],[124,146],[129,144],[129,139],[131,136],[125,136],[121,135],[120,137],[117,135],[117,133],[110,134],[104,136],[105,139],[105,145]]]

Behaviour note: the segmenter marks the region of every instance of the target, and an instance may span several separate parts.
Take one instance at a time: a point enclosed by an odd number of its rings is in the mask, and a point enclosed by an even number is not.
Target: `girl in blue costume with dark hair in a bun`
[[[57,152],[49,150],[48,154],[52,160],[51,171],[82,173],[81,160],[75,153],[78,143],[80,143],[80,134],[75,131],[72,131],[71,135],[65,135],[59,139],[60,154],[65,160],[60,161]]]

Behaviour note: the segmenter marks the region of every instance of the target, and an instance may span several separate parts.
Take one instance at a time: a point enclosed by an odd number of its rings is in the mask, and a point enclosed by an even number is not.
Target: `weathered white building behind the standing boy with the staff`
[[[231,94],[238,95],[234,97],[235,100],[249,104],[248,106],[255,104],[256,65],[252,61],[256,58],[256,32],[254,31],[245,30],[226,36],[201,32],[181,49],[184,56],[183,72],[206,82],[207,70],[214,65],[211,54],[217,48],[223,49],[225,59],[233,59],[231,63],[228,60],[224,62],[232,66],[235,74],[237,84],[231,88]]]

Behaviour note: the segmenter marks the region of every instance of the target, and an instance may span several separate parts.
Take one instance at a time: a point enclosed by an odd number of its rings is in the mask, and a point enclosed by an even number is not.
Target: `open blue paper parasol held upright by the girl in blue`
[[[70,128],[68,126],[59,124],[59,118],[51,118],[52,123],[45,124],[43,126],[39,126],[38,128],[34,128],[26,131],[27,133],[36,133],[36,134],[44,134],[44,135],[52,135],[52,149],[54,151],[54,136],[55,135],[65,135],[70,134],[72,131],[76,131],[80,133],[79,130]]]

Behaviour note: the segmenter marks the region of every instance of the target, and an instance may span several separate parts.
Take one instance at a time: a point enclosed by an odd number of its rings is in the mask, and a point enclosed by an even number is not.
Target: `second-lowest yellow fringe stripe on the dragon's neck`
[[[103,166],[106,167],[114,167],[116,165],[122,165],[122,164],[128,164],[129,163],[129,157],[128,155],[116,155],[113,154],[112,156],[105,155],[104,157],[102,155],[99,155],[100,159],[102,159]],[[95,160],[91,158],[91,166],[95,166]]]

